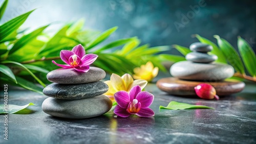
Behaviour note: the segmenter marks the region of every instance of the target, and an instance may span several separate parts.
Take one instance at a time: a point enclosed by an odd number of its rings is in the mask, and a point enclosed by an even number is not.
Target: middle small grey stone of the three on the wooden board
[[[186,55],[186,60],[199,63],[210,63],[217,59],[216,55],[208,55],[207,53],[191,52]]]

